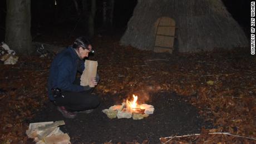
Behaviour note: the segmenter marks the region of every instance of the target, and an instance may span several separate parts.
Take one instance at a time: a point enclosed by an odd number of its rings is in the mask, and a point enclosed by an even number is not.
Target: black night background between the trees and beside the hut
[[[80,1],[77,1],[78,4]],[[250,33],[250,1],[249,0],[223,0],[228,11],[235,20],[243,27],[247,36]],[[126,24],[132,16],[132,12],[137,4],[136,0],[115,1],[114,19],[112,27],[102,26],[102,0],[97,1],[97,11],[95,16],[96,34],[115,29],[115,32],[124,32]],[[32,38],[52,28],[66,29],[71,33],[74,29],[84,29],[86,19],[77,15],[75,5],[72,0],[33,0],[31,1]],[[6,17],[6,1],[0,1],[0,41],[4,41]]]

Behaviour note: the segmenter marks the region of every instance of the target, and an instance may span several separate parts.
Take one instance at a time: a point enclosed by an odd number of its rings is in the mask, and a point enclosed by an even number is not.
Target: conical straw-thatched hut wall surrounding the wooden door
[[[248,46],[248,39],[221,0],[138,0],[120,43],[153,50],[156,22],[176,22],[176,51],[194,53]]]

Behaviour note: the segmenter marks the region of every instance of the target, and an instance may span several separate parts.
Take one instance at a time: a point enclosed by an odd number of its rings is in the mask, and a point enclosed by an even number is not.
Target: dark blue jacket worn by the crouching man
[[[72,47],[68,47],[57,54],[52,61],[48,78],[48,96],[51,101],[54,100],[52,89],[60,88],[72,92],[81,92],[87,89],[85,86],[73,84],[77,71],[82,73],[85,69],[84,63]]]

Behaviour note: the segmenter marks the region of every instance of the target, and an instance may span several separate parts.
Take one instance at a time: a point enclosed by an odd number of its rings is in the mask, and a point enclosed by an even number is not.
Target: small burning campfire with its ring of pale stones
[[[123,102],[122,105],[114,105],[109,109],[102,110],[102,112],[106,113],[109,118],[133,118],[134,120],[141,120],[144,117],[148,117],[149,115],[154,113],[154,106],[142,104],[139,105],[137,103],[138,96],[132,95],[133,100]]]

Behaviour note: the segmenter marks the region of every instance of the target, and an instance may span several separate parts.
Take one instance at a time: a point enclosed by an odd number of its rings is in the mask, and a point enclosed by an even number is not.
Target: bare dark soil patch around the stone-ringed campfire
[[[201,127],[210,125],[203,122],[194,106],[174,93],[152,94],[147,104],[155,107],[155,112],[143,120],[113,119],[103,112],[112,105],[120,105],[125,97],[120,95],[102,97],[101,105],[90,114],[79,113],[74,119],[64,118],[51,102],[38,112],[32,122],[64,120],[61,126],[68,133],[72,143],[142,142],[160,143],[160,137],[200,133]]]

